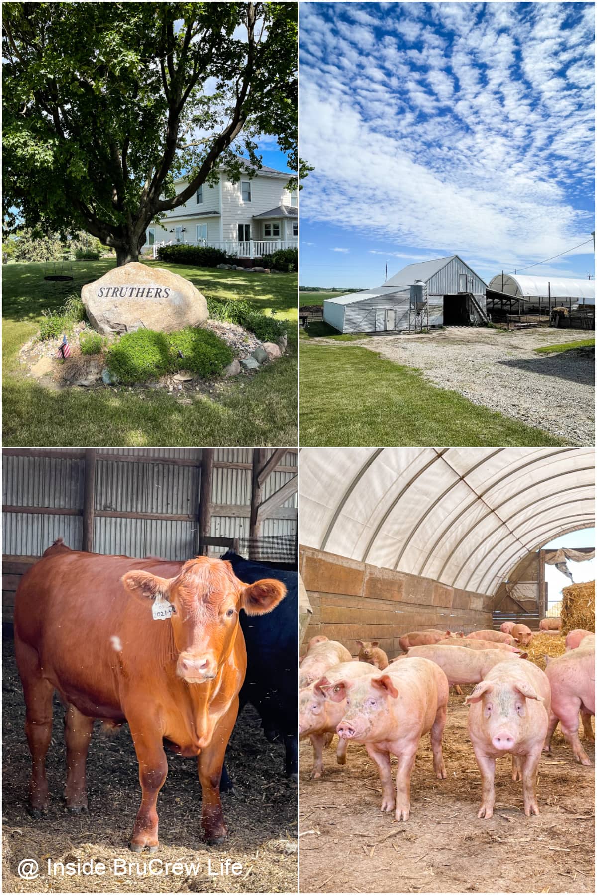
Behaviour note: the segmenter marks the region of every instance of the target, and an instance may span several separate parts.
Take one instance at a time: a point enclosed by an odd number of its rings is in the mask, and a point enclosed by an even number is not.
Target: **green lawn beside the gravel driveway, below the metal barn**
[[[368,348],[301,344],[301,444],[564,444],[547,432],[436,388]]]

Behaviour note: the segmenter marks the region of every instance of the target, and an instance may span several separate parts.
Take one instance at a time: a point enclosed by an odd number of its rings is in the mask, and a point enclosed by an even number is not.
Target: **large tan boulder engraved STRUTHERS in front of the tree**
[[[131,261],[81,289],[91,326],[99,333],[196,327],[209,317],[208,303],[188,280],[165,268]]]

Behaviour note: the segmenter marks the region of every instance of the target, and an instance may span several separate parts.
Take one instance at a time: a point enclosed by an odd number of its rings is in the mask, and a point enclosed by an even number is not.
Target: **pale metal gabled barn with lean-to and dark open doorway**
[[[458,255],[408,264],[377,289],[328,298],[323,320],[342,333],[402,332],[411,328],[411,286],[424,284],[429,326],[487,321],[487,286]]]

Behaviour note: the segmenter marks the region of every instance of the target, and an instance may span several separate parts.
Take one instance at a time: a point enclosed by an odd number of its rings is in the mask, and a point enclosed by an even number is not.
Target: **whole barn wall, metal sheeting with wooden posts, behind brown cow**
[[[21,575],[63,538],[72,550],[296,561],[296,451],[100,448],[3,451],[3,618]]]

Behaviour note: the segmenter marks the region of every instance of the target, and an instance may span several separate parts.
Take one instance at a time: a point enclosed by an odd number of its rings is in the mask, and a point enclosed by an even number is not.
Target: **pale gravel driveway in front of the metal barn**
[[[417,367],[435,385],[538,426],[570,444],[593,445],[593,359],[581,351],[533,352],[541,345],[592,336],[567,329],[508,332],[448,327],[429,335],[379,336],[346,344],[362,345],[389,361]]]

